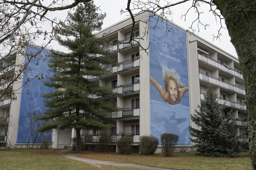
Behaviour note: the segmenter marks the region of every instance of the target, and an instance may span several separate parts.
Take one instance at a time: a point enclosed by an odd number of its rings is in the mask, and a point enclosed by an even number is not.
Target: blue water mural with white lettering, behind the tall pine
[[[31,55],[37,54],[40,50],[40,48],[35,46],[27,46],[25,63],[28,62],[28,58],[30,58]],[[30,115],[33,112],[37,115],[44,112],[45,99],[41,97],[41,95],[54,91],[53,88],[44,86],[42,83],[46,76],[53,76],[53,73],[50,72],[48,67],[49,54],[49,50],[42,50],[39,52],[37,56],[30,61],[23,74],[17,143],[31,143],[33,141],[33,137],[30,135],[32,129],[30,127]],[[42,134],[38,134],[38,136],[39,135]],[[51,132],[48,132],[47,134],[44,133],[44,135],[47,135],[47,139],[51,140]]]

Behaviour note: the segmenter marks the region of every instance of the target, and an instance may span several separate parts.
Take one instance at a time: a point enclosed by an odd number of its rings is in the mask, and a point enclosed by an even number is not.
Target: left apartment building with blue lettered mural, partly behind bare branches
[[[29,45],[13,51],[0,63],[1,94],[7,89],[0,99],[0,145],[26,147],[24,145],[40,142],[38,137],[42,135],[34,136],[37,132],[29,115],[44,112],[41,95],[53,91],[43,84],[46,76],[53,75],[47,65],[49,54],[47,49]],[[27,63],[27,68],[21,72]],[[11,83],[19,73],[22,74]],[[49,141],[51,134],[44,133]]]

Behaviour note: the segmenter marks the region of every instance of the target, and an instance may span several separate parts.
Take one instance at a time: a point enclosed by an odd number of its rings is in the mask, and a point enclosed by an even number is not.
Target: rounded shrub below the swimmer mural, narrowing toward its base
[[[179,140],[179,136],[175,134],[161,134],[162,153],[164,156],[171,156],[175,151],[175,145]]]

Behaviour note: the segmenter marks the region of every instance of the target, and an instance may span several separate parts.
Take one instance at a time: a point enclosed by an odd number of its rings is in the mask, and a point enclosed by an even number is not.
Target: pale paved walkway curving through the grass
[[[102,165],[111,165],[111,166],[127,167],[127,168],[138,168],[138,169],[147,169],[147,170],[170,170],[170,169],[164,169],[164,168],[145,167],[145,166],[134,165],[134,164],[115,163],[115,162],[109,162],[109,161],[103,161],[103,160],[94,160],[94,159],[76,157],[77,155],[80,155],[79,153],[75,153],[75,154],[60,153],[60,155],[66,157],[66,158],[82,161],[82,162],[89,163],[89,164],[92,164],[95,166],[102,164]]]

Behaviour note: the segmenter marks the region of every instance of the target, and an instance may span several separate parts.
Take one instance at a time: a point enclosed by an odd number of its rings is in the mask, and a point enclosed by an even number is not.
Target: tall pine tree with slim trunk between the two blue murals
[[[82,152],[80,130],[101,130],[110,127],[113,119],[109,115],[115,111],[112,101],[94,99],[94,95],[107,96],[114,94],[107,87],[99,86],[89,81],[85,76],[102,76],[106,70],[101,64],[117,64],[116,61],[99,57],[98,54],[107,54],[99,48],[104,42],[94,35],[100,30],[105,14],[97,13],[93,2],[79,5],[67,21],[62,23],[61,34],[65,39],[58,38],[60,45],[71,52],[60,53],[54,51],[51,55],[49,67],[54,77],[44,84],[54,87],[55,91],[43,97],[48,99],[45,116],[40,119],[50,120],[43,124],[40,131],[53,128],[76,129],[77,152]]]

